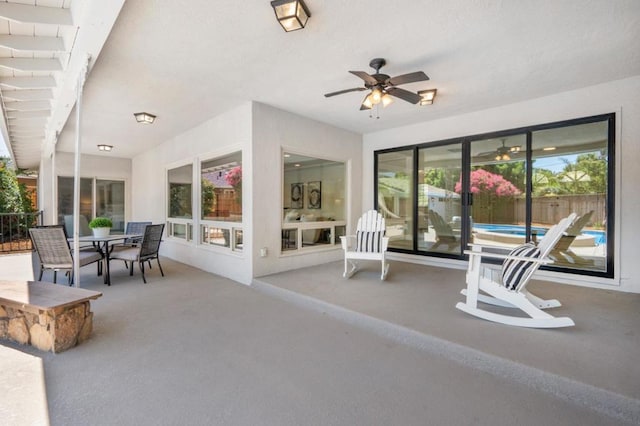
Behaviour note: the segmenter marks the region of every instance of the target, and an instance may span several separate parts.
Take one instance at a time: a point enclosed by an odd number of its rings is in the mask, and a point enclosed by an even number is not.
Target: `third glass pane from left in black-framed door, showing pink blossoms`
[[[473,242],[515,247],[526,235],[526,135],[471,141]]]

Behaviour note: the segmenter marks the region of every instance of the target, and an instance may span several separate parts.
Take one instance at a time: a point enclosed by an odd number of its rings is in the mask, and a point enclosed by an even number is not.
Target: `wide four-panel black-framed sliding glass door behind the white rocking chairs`
[[[549,268],[613,276],[615,115],[379,151],[390,250],[464,259],[470,243],[536,244],[571,213]]]

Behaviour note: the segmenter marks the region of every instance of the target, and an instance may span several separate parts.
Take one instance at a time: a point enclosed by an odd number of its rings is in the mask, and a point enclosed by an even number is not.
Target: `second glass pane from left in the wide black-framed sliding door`
[[[419,251],[461,252],[461,164],[461,143],[418,150]]]

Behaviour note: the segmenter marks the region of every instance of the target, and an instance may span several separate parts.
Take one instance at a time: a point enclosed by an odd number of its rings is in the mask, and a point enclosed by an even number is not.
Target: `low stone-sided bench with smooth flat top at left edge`
[[[85,341],[97,291],[40,281],[0,280],[0,338],[54,353]]]

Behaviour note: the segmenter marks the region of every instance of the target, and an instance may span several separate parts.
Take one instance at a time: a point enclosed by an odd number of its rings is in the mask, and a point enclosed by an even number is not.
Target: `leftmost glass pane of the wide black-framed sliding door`
[[[389,248],[413,250],[414,150],[380,153],[378,211],[385,217]]]

